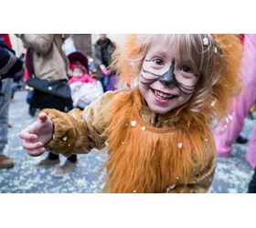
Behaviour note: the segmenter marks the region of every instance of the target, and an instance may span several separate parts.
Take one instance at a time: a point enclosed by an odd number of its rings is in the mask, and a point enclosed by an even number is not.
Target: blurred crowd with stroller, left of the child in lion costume
[[[3,151],[7,143],[8,107],[17,90],[27,90],[28,113],[35,117],[40,109],[84,109],[104,92],[115,90],[117,75],[111,69],[115,45],[101,34],[92,47],[92,57],[75,46],[72,35],[17,34],[27,53],[16,59],[20,67],[1,78],[0,108],[0,169],[14,167],[11,158]],[[1,35],[3,43],[12,48],[7,34]],[[8,62],[8,59],[7,59]],[[1,71],[0,71],[1,72]],[[48,157],[37,164],[46,167],[59,164],[59,155],[48,152]],[[63,176],[76,169],[77,155],[71,155],[59,166],[54,176]]]

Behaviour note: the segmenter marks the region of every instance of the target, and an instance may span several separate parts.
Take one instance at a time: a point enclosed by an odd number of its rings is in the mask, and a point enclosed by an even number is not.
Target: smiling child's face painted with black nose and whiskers
[[[165,114],[185,104],[195,91],[198,74],[189,59],[180,60],[178,47],[152,43],[144,59],[139,88],[150,109]]]

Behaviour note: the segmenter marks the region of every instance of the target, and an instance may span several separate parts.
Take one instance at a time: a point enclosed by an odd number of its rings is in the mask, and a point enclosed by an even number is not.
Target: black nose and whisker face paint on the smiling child
[[[145,59],[145,61],[146,62],[151,62],[152,60]],[[176,67],[176,62],[175,62],[175,59],[173,59],[172,60],[172,64],[169,67],[168,71],[166,71],[163,75],[154,74],[153,72],[150,72],[150,71],[145,70],[143,68],[143,72],[144,73],[153,75],[155,78],[152,78],[152,79],[145,78],[145,76],[143,74],[141,74],[141,77],[144,78],[144,80],[148,81],[148,82],[143,82],[142,81],[142,83],[144,85],[150,85],[150,84],[152,84],[152,83],[154,83],[155,81],[158,80],[158,81],[160,81],[165,86],[173,85],[173,86],[179,88],[186,95],[193,94],[194,89],[195,89],[197,83],[195,83],[194,85],[188,86],[188,85],[185,85],[185,84],[179,82],[178,80],[176,80],[175,67]],[[199,77],[196,74],[195,74],[195,76]]]

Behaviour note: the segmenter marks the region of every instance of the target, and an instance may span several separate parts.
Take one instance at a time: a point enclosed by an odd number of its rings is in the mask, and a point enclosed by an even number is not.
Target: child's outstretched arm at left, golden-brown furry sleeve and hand
[[[37,130],[31,132],[31,126],[33,125],[29,126],[20,133],[20,138],[24,140],[24,148],[32,156],[41,155],[44,150],[48,150],[61,153],[66,157],[69,157],[72,153],[88,153],[92,148],[103,149],[105,139],[101,134],[104,131],[104,126],[102,126],[103,117],[100,111],[117,93],[109,92],[102,95],[101,98],[91,102],[91,105],[83,111],[73,109],[67,114],[56,109],[43,109],[39,115],[47,116],[49,125],[53,126],[52,131],[48,129],[47,140],[41,141],[36,139],[40,138]],[[54,133],[50,134],[49,132]],[[37,142],[33,143],[34,139],[29,138],[32,136],[35,137]],[[33,149],[32,152],[31,148]]]

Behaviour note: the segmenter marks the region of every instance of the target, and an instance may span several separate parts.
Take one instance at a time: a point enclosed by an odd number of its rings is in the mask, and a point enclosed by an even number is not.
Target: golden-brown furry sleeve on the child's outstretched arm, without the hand
[[[72,109],[63,113],[56,109],[43,109],[41,112],[45,112],[54,125],[54,136],[46,150],[69,157],[72,153],[88,153],[92,148],[103,149],[106,139],[101,134],[107,123],[101,109],[116,94],[118,92],[105,93],[83,111]]]

